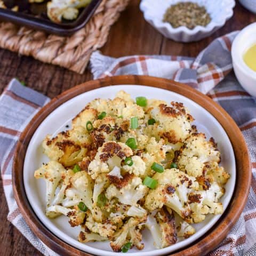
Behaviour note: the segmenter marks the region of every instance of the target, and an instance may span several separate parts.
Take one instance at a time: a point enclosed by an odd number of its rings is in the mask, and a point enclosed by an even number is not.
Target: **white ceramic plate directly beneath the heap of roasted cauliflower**
[[[220,198],[224,210],[226,210],[229,204],[235,187],[236,163],[233,147],[229,141],[228,135],[217,119],[196,102],[178,93],[139,85],[107,86],[77,95],[52,111],[52,113],[38,126],[27,148],[23,166],[23,181],[29,203],[45,227],[66,243],[93,255],[118,256],[124,254],[114,253],[109,246],[109,242],[79,243],[77,241],[77,234],[79,233],[80,228],[70,227],[67,217],[63,215],[55,219],[47,218],[45,215],[45,182],[42,179],[36,180],[34,178],[34,171],[38,169],[42,163],[49,161],[43,154],[41,146],[42,140],[45,138],[46,134],[54,135],[60,131],[66,130],[65,126],[68,124],[70,127],[71,119],[84,108],[86,103],[95,98],[114,98],[115,94],[120,90],[130,93],[133,99],[138,95],[141,95],[149,99],[155,98],[167,102],[172,100],[183,102],[190,110],[191,115],[196,118],[194,124],[197,126],[198,131],[204,132],[208,139],[213,137],[215,141],[218,142],[218,148],[221,153],[221,165],[230,173],[231,177],[225,185],[226,193]],[[159,250],[155,249],[153,238],[151,237],[150,232],[145,229],[143,230],[143,243],[145,243],[145,249],[138,251],[133,248],[126,254],[131,256],[159,256],[170,254],[175,250],[179,250],[195,242],[199,237],[204,236],[207,230],[209,230],[220,217],[220,214],[207,215],[203,222],[193,225],[197,230],[196,234],[185,240],[179,239],[176,244]]]

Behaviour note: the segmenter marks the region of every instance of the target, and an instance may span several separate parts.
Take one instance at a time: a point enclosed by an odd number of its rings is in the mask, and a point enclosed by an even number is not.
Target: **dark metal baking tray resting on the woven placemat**
[[[61,23],[54,23],[47,18],[47,0],[40,4],[29,3],[28,0],[4,0],[3,2],[7,9],[0,8],[0,20],[10,21],[36,30],[43,30],[49,34],[70,36],[85,26],[102,0],[92,0],[89,5],[79,10],[76,20],[63,20]],[[11,10],[15,5],[19,6],[18,12]]]

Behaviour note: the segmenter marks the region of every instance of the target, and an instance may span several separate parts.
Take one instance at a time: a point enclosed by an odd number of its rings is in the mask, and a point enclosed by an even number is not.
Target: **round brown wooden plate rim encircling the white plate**
[[[103,86],[119,85],[119,84],[137,84],[159,87],[170,90],[195,101],[207,111],[209,111],[225,129],[230,142],[232,143],[236,158],[236,187],[231,201],[222,214],[219,221],[205,234],[204,238],[198,239],[192,245],[183,248],[171,255],[175,256],[202,256],[212,251],[227,236],[231,228],[235,225],[241,215],[249,195],[251,185],[251,163],[249,153],[243,135],[233,119],[223,110],[217,103],[204,94],[191,89],[185,84],[180,84],[171,80],[149,77],[149,76],[116,76],[106,77],[95,81],[89,81],[81,85],[77,85],[72,89],[63,92],[54,98],[50,103],[43,107],[36,116],[30,121],[25,131],[21,134],[17,143],[13,161],[13,191],[19,209],[25,218],[28,226],[36,236],[49,246],[53,251],[60,255],[91,255],[80,251],[75,247],[63,242],[60,238],[53,235],[41,221],[37,218],[28,202],[25,188],[23,185],[23,162],[26,150],[31,137],[36,131],[39,124],[63,102],[81,93],[97,89]]]

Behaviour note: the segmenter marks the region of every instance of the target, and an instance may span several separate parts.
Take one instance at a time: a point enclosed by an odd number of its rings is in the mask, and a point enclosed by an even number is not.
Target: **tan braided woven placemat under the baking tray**
[[[129,0],[103,0],[87,25],[70,37],[0,23],[0,47],[82,74],[93,51],[107,41],[111,25]]]

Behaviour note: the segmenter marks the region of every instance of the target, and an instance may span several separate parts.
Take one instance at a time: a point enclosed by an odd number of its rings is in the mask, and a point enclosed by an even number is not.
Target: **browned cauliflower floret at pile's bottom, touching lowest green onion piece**
[[[146,219],[130,218],[121,229],[119,229],[115,235],[111,238],[110,246],[114,252],[120,252],[123,245],[130,242],[137,249],[142,250],[144,244],[141,243],[142,235],[140,229],[141,223]]]

